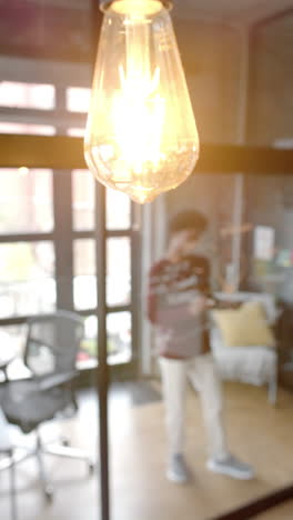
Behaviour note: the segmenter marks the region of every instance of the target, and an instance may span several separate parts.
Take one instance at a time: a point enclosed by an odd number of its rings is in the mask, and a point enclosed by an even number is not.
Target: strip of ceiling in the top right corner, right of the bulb
[[[253,23],[292,8],[293,0],[173,0],[174,14],[184,19]]]

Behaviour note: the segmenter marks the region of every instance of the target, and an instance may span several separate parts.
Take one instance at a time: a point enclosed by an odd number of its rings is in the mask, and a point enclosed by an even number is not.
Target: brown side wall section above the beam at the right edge
[[[293,12],[253,38],[249,138],[256,144],[293,138]]]

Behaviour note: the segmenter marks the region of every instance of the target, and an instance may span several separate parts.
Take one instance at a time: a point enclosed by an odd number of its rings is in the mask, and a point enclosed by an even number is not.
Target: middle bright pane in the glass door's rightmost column
[[[107,303],[127,304],[131,297],[130,239],[110,238],[107,241]]]

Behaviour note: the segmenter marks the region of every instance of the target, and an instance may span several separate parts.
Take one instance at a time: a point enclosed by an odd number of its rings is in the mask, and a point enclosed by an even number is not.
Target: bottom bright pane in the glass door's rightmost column
[[[111,364],[131,360],[131,314],[113,312],[107,317],[108,352]]]

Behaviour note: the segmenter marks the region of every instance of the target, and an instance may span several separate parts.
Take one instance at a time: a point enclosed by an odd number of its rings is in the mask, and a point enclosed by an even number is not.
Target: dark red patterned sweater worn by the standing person
[[[148,313],[156,326],[158,353],[186,359],[210,351],[206,310],[192,314],[196,298],[210,296],[210,266],[203,257],[161,260],[150,271]]]

